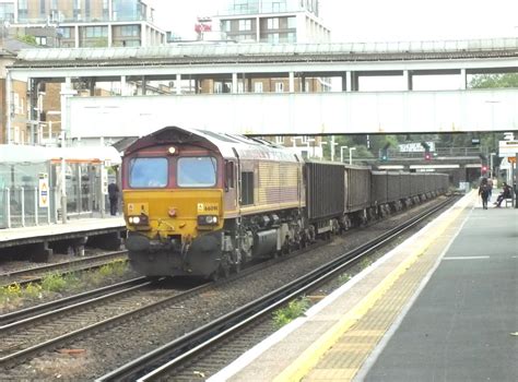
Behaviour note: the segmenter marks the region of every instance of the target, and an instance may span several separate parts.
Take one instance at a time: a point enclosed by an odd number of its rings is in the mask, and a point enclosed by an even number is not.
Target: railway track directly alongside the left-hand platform
[[[114,261],[128,261],[128,251],[125,250],[103,253],[94,256],[74,259],[68,262],[46,264],[37,267],[0,273],[0,288],[15,283],[21,286],[31,283],[39,283],[45,276],[51,273],[64,275],[73,272],[95,270]]]

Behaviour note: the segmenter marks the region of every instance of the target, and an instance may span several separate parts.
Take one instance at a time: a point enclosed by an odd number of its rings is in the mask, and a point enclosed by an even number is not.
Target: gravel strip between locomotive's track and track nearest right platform
[[[443,200],[443,198],[438,200]],[[231,284],[219,285],[196,301],[185,301],[179,307],[150,313],[138,321],[97,333],[69,345],[69,349],[44,353],[26,365],[0,372],[0,380],[92,381],[118,366],[302,276],[309,270],[331,260],[338,253],[343,253],[377,237],[380,231],[395,227],[409,216],[428,207],[431,203],[436,202],[419,205],[365,229],[350,231],[334,238],[328,246],[281,262],[276,266]],[[332,288],[332,286],[322,287],[321,293],[327,294]]]

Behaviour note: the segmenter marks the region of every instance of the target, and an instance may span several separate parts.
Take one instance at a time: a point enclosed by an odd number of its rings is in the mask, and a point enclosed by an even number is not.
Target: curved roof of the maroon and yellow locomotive
[[[302,162],[284,146],[264,140],[178,127],[166,127],[137,140],[126,150],[125,155],[144,147],[166,144],[208,144],[225,158],[236,158],[237,154],[240,159]]]

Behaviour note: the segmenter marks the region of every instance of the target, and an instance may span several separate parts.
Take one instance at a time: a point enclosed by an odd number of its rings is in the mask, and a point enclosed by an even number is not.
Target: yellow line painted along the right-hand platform
[[[391,273],[387,275],[374,289],[372,289],[353,309],[345,313],[333,326],[323,333],[311,346],[301,354],[287,368],[274,378],[274,382],[301,381],[315,366],[323,354],[329,350],[340,337],[390,289],[396,280],[405,273],[417,259],[425,253],[431,244],[455,222],[455,219],[471,206],[476,199],[476,193],[471,192],[466,195],[458,204],[447,212],[444,219],[437,224],[429,235],[424,238],[419,247],[398,265]]]

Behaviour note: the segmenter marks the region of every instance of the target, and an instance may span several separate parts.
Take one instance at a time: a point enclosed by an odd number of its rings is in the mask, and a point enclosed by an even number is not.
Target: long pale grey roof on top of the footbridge
[[[153,47],[24,49],[13,67],[341,62],[518,56],[518,38],[396,43],[177,43]]]

